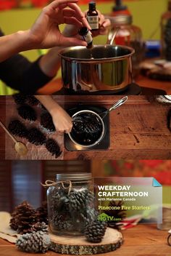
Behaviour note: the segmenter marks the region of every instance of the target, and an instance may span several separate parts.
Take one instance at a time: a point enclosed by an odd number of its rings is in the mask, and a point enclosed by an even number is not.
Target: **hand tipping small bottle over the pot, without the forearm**
[[[86,26],[91,29],[86,17],[76,4],[77,2],[78,0],[55,0],[43,8],[38,19],[29,30],[33,48],[87,45],[86,41],[77,37],[66,38],[59,31],[59,25],[63,23],[72,24],[78,28]]]

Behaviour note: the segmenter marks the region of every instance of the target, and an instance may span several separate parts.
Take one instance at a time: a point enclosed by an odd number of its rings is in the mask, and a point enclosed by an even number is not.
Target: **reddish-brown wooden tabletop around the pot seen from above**
[[[58,97],[59,99],[59,97]],[[77,105],[103,105],[109,108],[120,96],[66,96],[65,108]],[[62,101],[59,103],[63,104]],[[0,116],[5,119],[4,97]],[[167,128],[170,105],[150,103],[146,96],[130,96],[127,103],[110,113],[110,147],[105,151],[67,151],[70,159],[170,159],[171,136]],[[4,159],[4,132],[0,129],[0,159]]]

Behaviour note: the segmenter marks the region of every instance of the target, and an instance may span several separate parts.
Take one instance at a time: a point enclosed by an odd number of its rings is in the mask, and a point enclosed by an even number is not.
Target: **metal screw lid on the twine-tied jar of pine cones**
[[[57,180],[91,180],[91,172],[58,173]]]

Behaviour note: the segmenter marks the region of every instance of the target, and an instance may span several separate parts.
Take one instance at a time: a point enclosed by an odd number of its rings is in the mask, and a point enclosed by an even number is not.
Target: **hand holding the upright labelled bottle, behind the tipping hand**
[[[99,12],[98,10],[97,12],[99,14],[99,29],[97,31],[91,31],[92,36],[107,35],[108,28],[111,25],[111,22],[109,19],[106,19],[104,15],[101,14],[101,12]],[[84,12],[85,17],[86,17],[86,13],[87,11]],[[62,34],[66,37],[76,36],[78,35],[78,27],[71,24],[66,25]],[[80,36],[78,36],[78,38],[80,38]]]

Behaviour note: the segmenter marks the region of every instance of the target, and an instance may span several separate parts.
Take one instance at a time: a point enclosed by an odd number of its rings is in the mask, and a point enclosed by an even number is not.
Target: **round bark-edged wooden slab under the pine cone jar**
[[[86,241],[83,236],[51,236],[51,250],[62,255],[96,255],[104,252],[112,252],[122,244],[122,233],[107,228],[104,239],[100,243]]]

